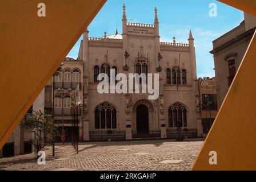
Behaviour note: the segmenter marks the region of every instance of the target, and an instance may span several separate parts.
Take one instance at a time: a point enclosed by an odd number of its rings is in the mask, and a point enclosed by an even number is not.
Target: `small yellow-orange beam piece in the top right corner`
[[[233,6],[239,10],[256,16],[256,1],[255,0],[218,0],[226,5]]]

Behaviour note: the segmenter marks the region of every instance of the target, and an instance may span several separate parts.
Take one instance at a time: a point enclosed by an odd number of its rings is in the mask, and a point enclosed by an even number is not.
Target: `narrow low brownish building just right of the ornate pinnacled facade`
[[[199,94],[201,101],[202,137],[206,137],[218,113],[217,90],[214,78],[199,78]]]

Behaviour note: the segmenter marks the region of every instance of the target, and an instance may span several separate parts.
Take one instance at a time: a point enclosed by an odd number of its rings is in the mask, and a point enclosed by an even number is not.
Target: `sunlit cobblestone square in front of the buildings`
[[[0,159],[0,170],[190,170],[202,144],[198,140],[89,142],[79,144],[78,154],[70,144],[58,144],[54,158],[51,147],[46,147],[46,165],[38,165],[34,155],[27,154]]]

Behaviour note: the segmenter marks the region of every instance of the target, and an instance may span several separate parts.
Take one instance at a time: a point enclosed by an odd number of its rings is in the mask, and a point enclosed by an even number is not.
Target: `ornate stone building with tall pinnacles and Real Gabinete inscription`
[[[118,32],[107,35],[105,32],[101,38],[88,38],[89,32],[84,32],[78,60],[70,61],[71,77],[67,75],[70,80],[73,80],[74,68],[78,68],[78,65],[71,67],[71,64],[81,64],[81,67],[83,64],[83,70],[79,68],[84,106],[80,124],[81,138],[104,140],[108,135],[127,140],[150,136],[175,138],[178,126],[182,130],[189,129],[189,137],[201,137],[201,133],[197,132],[201,117],[194,38],[191,31],[188,34],[188,44],[176,43],[175,38],[173,42],[160,42],[157,9],[154,24],[127,23],[123,6],[122,24],[122,35]],[[129,54],[127,59],[126,51]],[[158,53],[163,57],[160,61],[162,71],[159,73],[158,100],[148,100],[149,94],[97,92],[99,73],[109,75],[110,68],[115,69],[116,73],[126,75],[158,73]],[[65,68],[67,67],[65,64]],[[69,94],[67,90],[65,93]],[[66,121],[71,119],[68,116],[65,118]],[[61,122],[61,116],[58,120]]]

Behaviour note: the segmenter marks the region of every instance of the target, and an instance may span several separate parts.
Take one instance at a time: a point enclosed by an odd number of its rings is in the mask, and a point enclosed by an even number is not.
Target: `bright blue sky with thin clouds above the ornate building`
[[[114,34],[116,27],[122,34],[122,5],[126,5],[128,22],[154,23],[154,7],[158,9],[162,42],[187,43],[189,30],[193,32],[197,56],[198,77],[213,77],[212,41],[238,26],[243,12],[215,0],[108,0],[88,27],[90,37],[101,37],[104,31]],[[209,16],[210,3],[217,4],[217,17]],[[80,38],[68,57],[77,59]]]

